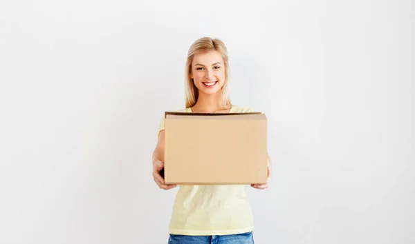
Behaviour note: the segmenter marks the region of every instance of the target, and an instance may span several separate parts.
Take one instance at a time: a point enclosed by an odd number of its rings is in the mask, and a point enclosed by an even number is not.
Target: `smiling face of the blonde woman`
[[[190,78],[199,93],[214,94],[221,90],[225,82],[225,65],[217,51],[195,54]]]

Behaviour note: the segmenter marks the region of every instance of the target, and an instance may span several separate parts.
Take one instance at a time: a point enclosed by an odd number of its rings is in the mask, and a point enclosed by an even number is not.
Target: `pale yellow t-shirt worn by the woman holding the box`
[[[183,110],[192,112],[190,108]],[[254,112],[232,106],[230,113]],[[160,122],[164,130],[164,119]],[[160,132],[159,130],[159,132]],[[250,232],[253,217],[245,185],[180,185],[174,200],[169,234],[225,235]]]

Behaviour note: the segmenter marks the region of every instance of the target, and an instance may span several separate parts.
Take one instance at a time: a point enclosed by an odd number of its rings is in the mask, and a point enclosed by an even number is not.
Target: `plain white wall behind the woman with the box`
[[[268,116],[257,243],[415,243],[411,1],[1,1],[0,243],[167,243],[151,153],[187,49]]]

